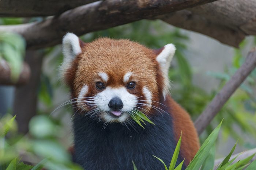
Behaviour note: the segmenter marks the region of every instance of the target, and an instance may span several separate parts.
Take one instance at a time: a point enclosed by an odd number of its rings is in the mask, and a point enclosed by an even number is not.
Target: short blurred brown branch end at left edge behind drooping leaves
[[[23,85],[29,81],[30,67],[27,63],[23,64],[22,71],[20,73],[18,81],[11,80],[11,69],[8,63],[4,59],[0,59],[0,85]]]

